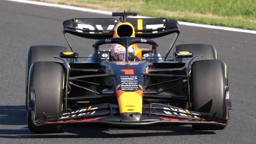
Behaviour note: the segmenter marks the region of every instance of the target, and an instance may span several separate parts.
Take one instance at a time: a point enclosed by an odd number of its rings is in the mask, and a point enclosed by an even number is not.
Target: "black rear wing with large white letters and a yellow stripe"
[[[179,23],[166,18],[127,18],[126,22],[133,25],[135,37],[158,38],[172,33],[179,34]],[[113,38],[113,30],[119,20],[113,18],[89,19],[75,18],[63,22],[63,33],[70,33],[88,39]]]

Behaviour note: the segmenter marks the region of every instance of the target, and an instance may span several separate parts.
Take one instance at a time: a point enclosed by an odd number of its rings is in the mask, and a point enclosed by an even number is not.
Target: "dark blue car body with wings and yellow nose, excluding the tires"
[[[71,19],[63,22],[63,34],[100,39],[93,45],[89,57],[78,53],[60,52],[59,59],[65,70],[63,78],[62,109],[37,113],[37,93],[29,88],[28,112],[33,126],[72,125],[81,123],[102,123],[118,126],[153,124],[177,125],[219,125],[229,122],[232,109],[227,84],[223,91],[223,115],[218,112],[193,111],[192,51],[169,53],[179,35],[179,25],[170,19],[126,19],[126,13],[116,19]],[[157,52],[156,38],[176,33],[164,57]],[[66,38],[66,36],[65,36]],[[66,38],[67,40],[67,38]],[[109,50],[102,50],[103,44],[120,44],[125,47],[125,61],[111,60]],[[136,55],[140,61],[129,61],[128,47],[133,44],[147,44],[150,49],[139,49]],[[216,50],[211,47],[213,58]],[[64,59],[65,58],[65,59]],[[87,58],[79,61],[79,58]],[[182,61],[182,58],[190,58]],[[224,64],[224,63],[223,63]],[[226,74],[226,67],[223,68]],[[227,77],[225,78],[227,82]]]

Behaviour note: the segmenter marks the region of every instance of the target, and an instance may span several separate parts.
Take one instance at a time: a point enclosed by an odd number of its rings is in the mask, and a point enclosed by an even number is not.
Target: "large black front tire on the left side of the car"
[[[35,120],[44,118],[43,112],[47,114],[60,113],[62,111],[64,95],[64,70],[61,64],[56,62],[35,62],[31,66],[29,73],[30,89],[35,91]],[[31,99],[31,92],[28,99]],[[28,100],[27,100],[28,101]],[[27,124],[32,132],[36,133],[58,133],[62,126],[35,126],[27,104]]]

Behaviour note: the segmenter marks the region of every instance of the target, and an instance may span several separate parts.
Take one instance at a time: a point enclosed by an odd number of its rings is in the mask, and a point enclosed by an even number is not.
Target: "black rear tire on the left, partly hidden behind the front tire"
[[[37,45],[37,46],[31,46],[27,50],[26,102],[25,102],[26,107],[27,107],[27,93],[28,93],[28,75],[29,75],[29,69],[31,65],[37,61],[62,62],[59,59],[53,58],[53,56],[59,56],[60,52],[67,52],[67,48],[62,46],[54,46],[54,45]]]

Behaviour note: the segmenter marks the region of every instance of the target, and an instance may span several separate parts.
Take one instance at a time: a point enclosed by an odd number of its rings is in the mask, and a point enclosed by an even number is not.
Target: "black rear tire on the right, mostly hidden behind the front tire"
[[[198,60],[217,60],[216,49],[212,45],[208,44],[181,44],[175,46],[174,52],[179,51],[193,51],[193,56],[203,55],[194,61]],[[182,58],[182,61],[189,61],[191,58]],[[177,61],[175,59],[175,61]]]

